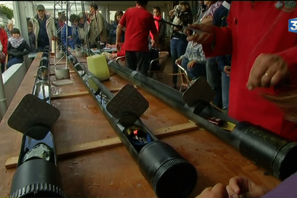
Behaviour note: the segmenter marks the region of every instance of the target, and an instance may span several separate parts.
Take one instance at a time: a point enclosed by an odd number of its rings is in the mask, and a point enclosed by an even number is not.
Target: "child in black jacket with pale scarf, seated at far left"
[[[7,48],[7,54],[10,58],[7,63],[7,69],[11,65],[22,63],[24,61],[24,55],[27,55],[31,50],[24,38],[21,37],[19,29],[13,28],[10,34],[11,37],[8,39]]]

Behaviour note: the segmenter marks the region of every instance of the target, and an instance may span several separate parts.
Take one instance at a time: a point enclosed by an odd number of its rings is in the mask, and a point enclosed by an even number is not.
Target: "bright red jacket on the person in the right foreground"
[[[277,1],[232,1],[228,27],[217,28],[215,49],[203,45],[206,56],[232,54],[229,115],[297,142],[297,124],[285,120],[283,111],[263,99],[273,88],[248,91],[249,71],[260,53],[276,53],[287,61],[293,85],[297,85],[297,33],[288,31],[288,20],[297,18],[297,8],[277,9]],[[296,87],[295,87],[296,88]]]

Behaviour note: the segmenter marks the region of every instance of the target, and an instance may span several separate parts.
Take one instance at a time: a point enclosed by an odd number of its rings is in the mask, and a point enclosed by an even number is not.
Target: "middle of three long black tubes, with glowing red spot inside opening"
[[[186,198],[196,186],[198,179],[196,168],[172,147],[158,141],[141,122],[140,118],[137,117],[136,121],[131,125],[121,122],[124,117],[121,119],[114,118],[105,108],[105,102],[110,100],[113,94],[82,64],[77,62],[74,68],[87,85],[89,92],[97,101],[100,110],[115,133],[131,154],[134,161],[138,164],[143,176],[148,181],[157,197]],[[82,74],[84,74],[84,76],[82,76]],[[88,81],[95,83],[97,89],[94,90],[94,86],[92,86],[92,83],[88,83]],[[141,146],[136,145],[129,136],[124,133],[125,130],[135,126],[139,127],[144,134],[147,134],[150,139],[148,143]]]

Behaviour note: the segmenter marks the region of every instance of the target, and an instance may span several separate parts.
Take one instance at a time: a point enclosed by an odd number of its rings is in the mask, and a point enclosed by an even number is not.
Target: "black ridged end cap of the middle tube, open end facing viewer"
[[[151,142],[141,149],[139,164],[158,198],[186,198],[196,186],[196,168],[161,141]]]

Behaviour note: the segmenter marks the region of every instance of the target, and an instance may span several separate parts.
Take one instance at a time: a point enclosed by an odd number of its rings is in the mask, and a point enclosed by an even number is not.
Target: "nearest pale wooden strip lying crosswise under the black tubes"
[[[199,127],[192,122],[180,124],[171,127],[165,127],[158,129],[154,132],[154,135],[158,138],[170,136],[173,134],[183,133],[191,130],[196,130]],[[83,154],[87,152],[97,151],[105,148],[112,148],[122,145],[122,142],[118,137],[109,138],[105,140],[94,141],[91,143],[85,143],[67,148],[57,148],[58,158],[69,157],[77,154]],[[18,156],[8,158],[5,162],[5,168],[15,168],[17,165]]]

